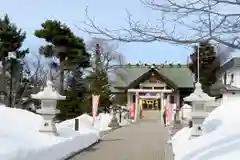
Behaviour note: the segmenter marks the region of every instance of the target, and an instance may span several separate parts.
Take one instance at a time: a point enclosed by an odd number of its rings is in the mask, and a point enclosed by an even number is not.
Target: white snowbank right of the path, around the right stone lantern
[[[203,123],[204,134],[189,140],[190,128],[172,137],[175,160],[237,160],[240,157],[240,100],[225,101]]]

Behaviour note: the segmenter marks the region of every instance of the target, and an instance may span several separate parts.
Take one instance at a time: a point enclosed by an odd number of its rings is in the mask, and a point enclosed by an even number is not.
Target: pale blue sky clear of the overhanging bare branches
[[[142,21],[157,17],[157,13],[144,8],[139,0],[0,0],[0,2],[0,16],[7,13],[14,23],[27,32],[24,46],[30,48],[33,53],[37,52],[42,43],[34,37],[34,30],[40,28],[40,24],[46,19],[60,20],[71,27],[77,35],[86,41],[89,40],[88,34],[74,27],[74,24],[84,27],[81,22],[85,20],[86,6],[96,23],[105,28],[117,29],[126,26],[126,9],[134,18]],[[186,63],[187,55],[191,51],[191,48],[160,42],[128,43],[119,47],[119,52],[123,53],[126,60],[131,63],[138,61]]]

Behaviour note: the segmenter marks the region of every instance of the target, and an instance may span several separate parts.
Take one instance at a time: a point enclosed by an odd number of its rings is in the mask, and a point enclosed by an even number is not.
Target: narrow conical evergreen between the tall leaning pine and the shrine
[[[92,64],[92,72],[87,77],[91,86],[91,93],[100,95],[99,99],[99,111],[107,112],[110,107],[110,85],[107,71],[104,70],[103,62],[101,59],[100,46],[96,45],[96,54],[94,55],[94,60]]]

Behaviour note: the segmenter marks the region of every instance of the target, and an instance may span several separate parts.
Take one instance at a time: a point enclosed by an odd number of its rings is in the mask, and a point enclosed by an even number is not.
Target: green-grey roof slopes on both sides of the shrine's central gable
[[[115,87],[127,87],[151,68],[137,65],[119,66],[116,70]],[[192,73],[187,65],[156,65],[155,70],[178,88],[193,88]]]

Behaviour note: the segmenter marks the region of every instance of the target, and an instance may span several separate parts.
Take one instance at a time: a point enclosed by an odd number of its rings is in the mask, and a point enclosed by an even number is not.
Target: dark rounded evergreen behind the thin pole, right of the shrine
[[[189,69],[195,74],[197,81],[197,64],[199,51],[199,80],[202,84],[204,92],[210,94],[210,87],[217,81],[216,72],[220,67],[219,58],[216,55],[214,47],[209,41],[202,41],[198,46],[195,46],[194,53],[191,54],[192,62],[189,64]]]

